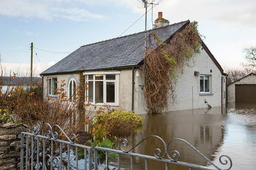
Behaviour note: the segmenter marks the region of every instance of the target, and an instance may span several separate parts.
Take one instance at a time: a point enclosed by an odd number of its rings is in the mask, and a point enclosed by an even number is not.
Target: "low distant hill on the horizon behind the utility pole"
[[[29,85],[30,83],[30,77],[15,77],[15,79],[13,79],[13,77],[0,77],[0,81],[2,82],[2,86],[6,86],[7,84],[11,84],[11,85]],[[42,78],[39,77],[33,77],[33,83],[36,83],[38,81],[42,82]]]

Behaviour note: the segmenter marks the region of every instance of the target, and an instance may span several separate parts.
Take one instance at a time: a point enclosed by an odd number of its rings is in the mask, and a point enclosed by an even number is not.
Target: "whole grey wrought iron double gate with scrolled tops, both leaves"
[[[44,128],[48,128],[45,135],[41,134]],[[61,139],[62,140],[61,140]],[[63,140],[63,138],[65,140]],[[131,152],[136,147],[141,145],[141,143],[149,138],[157,139],[162,142],[164,150],[162,151],[159,148],[156,148],[153,152],[154,156],[137,154]],[[148,160],[156,160],[165,164],[165,169],[169,169],[170,164],[179,165],[183,167],[188,167],[188,169],[231,169],[233,163],[229,156],[222,155],[219,158],[219,162],[222,165],[225,165],[226,168],[221,168],[215,165],[209,158],[204,156],[199,150],[192,146],[189,142],[183,139],[173,139],[166,142],[156,136],[150,135],[145,139],[141,140],[137,145],[131,147],[129,150],[126,150],[128,146],[128,141],[122,139],[119,143],[118,149],[110,149],[103,147],[90,147],[85,145],[79,145],[76,143],[76,135],[72,134],[71,137],[68,137],[67,134],[60,128],[59,125],[45,124],[42,128],[33,130],[32,133],[22,132],[21,133],[21,169],[109,169],[109,154],[117,154],[117,165],[113,169],[122,169],[121,168],[121,156],[129,156],[130,160],[127,159],[125,162],[130,162],[129,167],[126,169],[134,169],[134,158],[141,158],[145,161],[145,169],[148,169]],[[168,151],[169,146],[174,141],[180,141],[185,143],[191,149],[193,149],[197,154],[199,154],[207,163],[213,166],[201,166],[186,162],[180,162],[180,153],[177,150],[171,152]],[[94,150],[94,151],[93,151]],[[105,163],[100,165],[98,152],[105,152]],[[93,159],[94,158],[94,159]],[[124,160],[123,160],[124,161]],[[113,165],[111,166],[113,167]]]

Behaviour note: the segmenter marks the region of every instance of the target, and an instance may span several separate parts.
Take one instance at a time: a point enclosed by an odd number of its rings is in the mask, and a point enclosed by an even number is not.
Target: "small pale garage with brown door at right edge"
[[[256,74],[228,84],[227,96],[228,103],[256,103]]]

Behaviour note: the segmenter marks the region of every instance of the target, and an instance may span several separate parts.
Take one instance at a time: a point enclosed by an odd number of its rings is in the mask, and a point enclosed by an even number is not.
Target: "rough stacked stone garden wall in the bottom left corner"
[[[20,169],[20,137],[29,131],[25,124],[0,124],[0,170]]]

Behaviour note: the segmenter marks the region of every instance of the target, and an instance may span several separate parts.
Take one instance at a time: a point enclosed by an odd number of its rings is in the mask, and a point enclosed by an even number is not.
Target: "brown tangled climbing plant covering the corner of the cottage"
[[[150,34],[150,45],[145,55],[145,87],[143,88],[149,113],[161,113],[175,100],[175,84],[183,67],[200,53],[201,36],[197,22],[190,22],[169,42],[162,42],[156,34]]]

